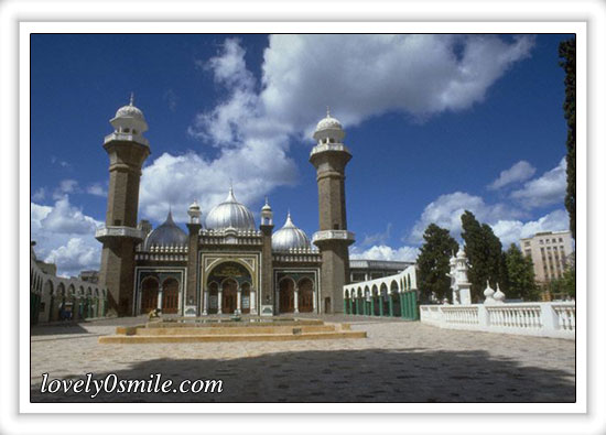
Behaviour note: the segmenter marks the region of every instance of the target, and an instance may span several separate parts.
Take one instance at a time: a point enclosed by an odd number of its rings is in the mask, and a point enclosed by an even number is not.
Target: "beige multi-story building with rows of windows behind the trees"
[[[563,276],[574,250],[571,231],[538,232],[521,239],[520,247],[524,255],[532,258],[534,279],[540,285]]]

